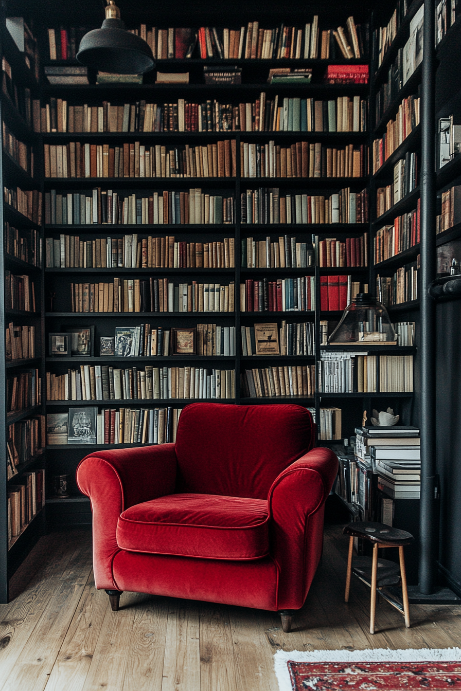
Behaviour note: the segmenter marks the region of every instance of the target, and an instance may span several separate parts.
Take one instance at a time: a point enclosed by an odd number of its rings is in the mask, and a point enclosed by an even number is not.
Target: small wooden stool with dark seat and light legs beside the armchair
[[[408,591],[406,589],[406,573],[404,560],[404,547],[409,545],[415,538],[411,533],[397,528],[391,528],[384,523],[357,522],[346,525],[343,530],[344,535],[349,538],[348,571],[346,574],[346,594],[344,600],[349,601],[350,576],[352,571],[357,578],[366,583],[371,588],[370,604],[370,634],[375,633],[375,612],[376,612],[376,592],[378,591],[388,603],[399,610],[405,617],[405,626],[410,627],[410,610],[408,607]],[[373,558],[370,560],[355,560],[352,568],[352,552],[354,551],[354,538],[368,540],[373,544]],[[398,547],[399,562],[391,562],[387,559],[378,559],[379,547]],[[395,600],[390,594],[382,591],[386,586],[398,585],[402,581],[402,604]]]

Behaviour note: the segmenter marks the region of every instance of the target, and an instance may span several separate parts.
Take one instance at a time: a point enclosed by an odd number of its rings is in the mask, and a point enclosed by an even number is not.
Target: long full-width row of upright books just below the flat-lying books
[[[280,97],[245,103],[135,103],[70,106],[50,97],[41,106],[32,100],[34,131],[41,133],[104,132],[365,132],[368,105],[359,96],[336,99]]]

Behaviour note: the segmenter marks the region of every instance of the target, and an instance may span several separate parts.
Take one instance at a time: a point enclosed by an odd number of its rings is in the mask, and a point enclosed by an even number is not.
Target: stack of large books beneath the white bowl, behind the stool
[[[419,499],[421,485],[420,430],[411,426],[362,427],[356,454],[369,459],[378,475],[378,489],[392,499]]]

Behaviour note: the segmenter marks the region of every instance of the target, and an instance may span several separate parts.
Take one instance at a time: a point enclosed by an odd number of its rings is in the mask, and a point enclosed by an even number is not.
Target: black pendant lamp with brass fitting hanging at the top
[[[106,19],[80,41],[77,60],[102,72],[139,75],[155,66],[151,48],[139,36],[126,31],[114,0],[107,0]]]

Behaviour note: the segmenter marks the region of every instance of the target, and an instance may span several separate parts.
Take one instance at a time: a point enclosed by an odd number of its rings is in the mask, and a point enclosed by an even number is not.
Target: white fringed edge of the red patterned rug
[[[278,650],[274,655],[274,669],[280,691],[292,691],[288,661],[294,662],[441,662],[461,661],[461,648],[417,648],[391,650],[312,650],[310,652]]]

